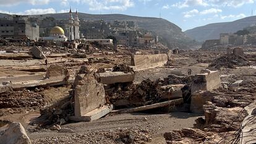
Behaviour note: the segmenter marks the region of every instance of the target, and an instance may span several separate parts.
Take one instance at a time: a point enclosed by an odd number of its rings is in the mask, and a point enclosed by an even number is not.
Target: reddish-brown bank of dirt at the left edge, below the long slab
[[[0,94],[0,116],[39,109],[45,105],[43,93],[30,90],[6,91]]]

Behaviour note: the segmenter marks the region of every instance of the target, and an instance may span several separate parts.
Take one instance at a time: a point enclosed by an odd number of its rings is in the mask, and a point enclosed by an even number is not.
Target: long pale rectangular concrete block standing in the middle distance
[[[135,70],[143,70],[162,67],[167,61],[167,54],[134,55],[131,59],[131,66],[135,66]]]

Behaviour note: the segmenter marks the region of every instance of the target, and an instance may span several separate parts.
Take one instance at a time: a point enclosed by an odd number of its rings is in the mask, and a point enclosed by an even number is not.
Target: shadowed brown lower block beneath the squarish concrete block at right
[[[212,101],[214,93],[210,91],[196,91],[191,95],[190,111],[195,114],[203,114],[203,104]]]

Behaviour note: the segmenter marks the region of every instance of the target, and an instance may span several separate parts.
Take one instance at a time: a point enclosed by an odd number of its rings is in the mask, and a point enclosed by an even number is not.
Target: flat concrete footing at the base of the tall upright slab
[[[69,119],[75,122],[90,122],[95,121],[96,119],[100,119],[103,116],[106,116],[109,112],[113,110],[113,105],[110,106],[102,106],[101,108],[93,109],[92,111],[84,114],[83,116],[70,116]]]

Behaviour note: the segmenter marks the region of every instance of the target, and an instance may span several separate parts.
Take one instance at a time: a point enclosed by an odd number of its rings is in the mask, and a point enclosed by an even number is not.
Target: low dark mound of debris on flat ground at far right
[[[221,56],[217,59],[214,59],[213,62],[209,65],[209,67],[215,67],[216,69],[220,69],[221,67],[234,69],[236,66],[249,66],[249,62],[245,61],[241,57],[231,55],[231,56]]]

